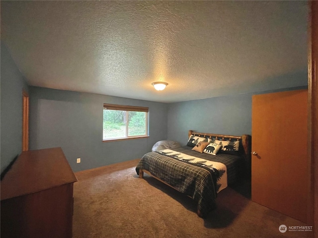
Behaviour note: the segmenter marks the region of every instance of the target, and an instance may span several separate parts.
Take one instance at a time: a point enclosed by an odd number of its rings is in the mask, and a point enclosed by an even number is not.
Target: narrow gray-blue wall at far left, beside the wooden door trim
[[[1,172],[22,151],[22,98],[28,85],[1,43],[0,158]]]

